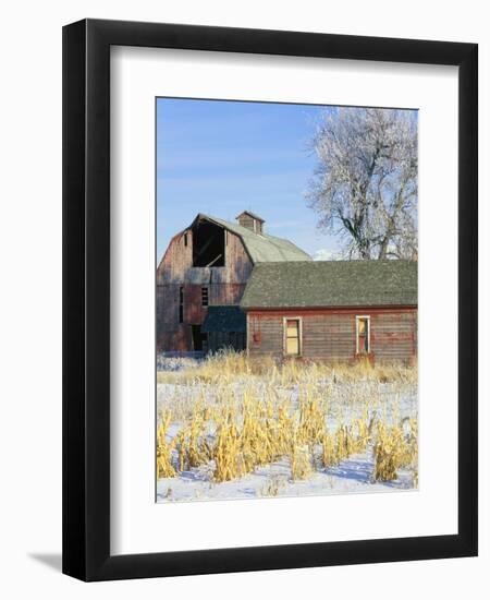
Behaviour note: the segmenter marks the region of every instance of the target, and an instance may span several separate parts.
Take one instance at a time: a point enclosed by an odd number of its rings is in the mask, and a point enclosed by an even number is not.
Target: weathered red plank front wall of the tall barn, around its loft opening
[[[208,288],[208,302],[238,304],[253,264],[238,236],[225,233],[225,266],[193,266],[193,233],[175,236],[157,269],[157,349],[193,350],[192,325],[200,325],[207,308],[201,304],[201,288]],[[183,323],[180,297],[183,288]]]

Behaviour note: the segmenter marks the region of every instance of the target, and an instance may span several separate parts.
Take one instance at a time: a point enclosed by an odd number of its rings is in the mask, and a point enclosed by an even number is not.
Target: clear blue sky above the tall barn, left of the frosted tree
[[[336,251],[316,228],[304,192],[308,149],[323,107],[222,100],[157,100],[157,253],[197,213],[234,221],[244,209],[266,231],[306,252]]]

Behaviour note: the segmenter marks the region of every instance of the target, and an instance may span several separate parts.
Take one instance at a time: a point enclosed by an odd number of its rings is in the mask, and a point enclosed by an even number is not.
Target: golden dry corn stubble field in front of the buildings
[[[286,473],[271,468],[255,495],[287,495],[292,483],[321,475],[334,491],[333,475],[348,478],[353,459],[368,485],[393,485],[401,473],[404,488],[418,484],[416,367],[277,363],[225,351],[159,371],[157,383],[166,500],[183,500],[169,490],[189,473],[208,488],[185,500],[206,500],[206,490],[278,464]]]

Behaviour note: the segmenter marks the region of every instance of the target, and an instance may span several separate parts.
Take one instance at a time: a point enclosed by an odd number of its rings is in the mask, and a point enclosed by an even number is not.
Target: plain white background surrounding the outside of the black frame
[[[61,565],[61,26],[85,16],[475,41],[480,45],[480,556],[84,585]],[[477,0],[9,3],[0,95],[0,593],[24,598],[306,595],[446,600],[488,593],[490,39]],[[443,249],[441,249],[443,251]],[[487,591],[485,591],[487,590]]]

